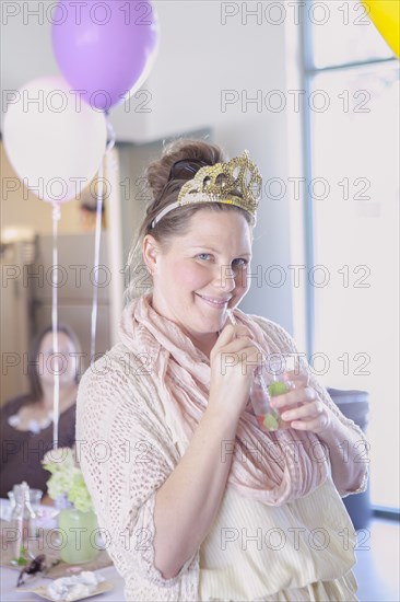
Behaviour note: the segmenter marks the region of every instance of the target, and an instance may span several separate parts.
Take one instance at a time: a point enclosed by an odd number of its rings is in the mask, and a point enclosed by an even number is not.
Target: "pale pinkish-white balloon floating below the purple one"
[[[79,196],[105,152],[104,114],[71,93],[59,77],[36,79],[15,96],[3,124],[4,148],[15,173],[48,202]]]

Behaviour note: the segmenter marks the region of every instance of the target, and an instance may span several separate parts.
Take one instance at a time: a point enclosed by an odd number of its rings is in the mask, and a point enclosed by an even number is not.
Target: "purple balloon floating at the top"
[[[148,0],[61,0],[54,14],[58,65],[71,88],[98,109],[108,111],[142,85],[157,43],[157,16]]]

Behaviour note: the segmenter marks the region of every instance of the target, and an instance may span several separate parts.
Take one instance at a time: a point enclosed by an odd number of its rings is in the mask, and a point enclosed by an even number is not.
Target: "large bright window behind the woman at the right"
[[[325,385],[369,392],[372,501],[396,509],[399,62],[361,2],[304,10],[308,350]]]

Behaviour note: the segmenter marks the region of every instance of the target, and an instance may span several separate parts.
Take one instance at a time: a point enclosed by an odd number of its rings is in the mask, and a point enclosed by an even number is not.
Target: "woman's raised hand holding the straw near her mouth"
[[[210,354],[209,407],[223,408],[238,418],[248,402],[252,373],[262,354],[243,324],[227,324]]]

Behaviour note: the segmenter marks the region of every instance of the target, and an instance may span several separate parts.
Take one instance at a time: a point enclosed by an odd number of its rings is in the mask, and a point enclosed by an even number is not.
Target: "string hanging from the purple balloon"
[[[92,301],[92,321],[91,321],[91,366],[95,361],[96,352],[96,327],[97,327],[97,313],[98,313],[98,266],[99,266],[99,251],[102,239],[102,216],[103,216],[103,196],[104,196],[104,161],[107,154],[115,146],[116,134],[108,119],[108,111],[105,112],[106,126],[107,126],[107,144],[97,172],[97,189],[96,189],[96,229],[94,240],[94,262],[93,273],[94,286],[93,286],[93,301]]]

